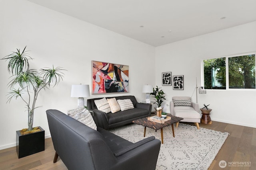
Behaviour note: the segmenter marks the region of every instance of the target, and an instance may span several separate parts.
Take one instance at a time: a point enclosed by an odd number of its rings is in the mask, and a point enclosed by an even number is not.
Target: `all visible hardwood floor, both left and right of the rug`
[[[194,126],[194,123],[186,124]],[[209,170],[256,169],[256,128],[216,121],[212,121],[210,125],[200,123],[200,127],[230,134]],[[0,150],[0,170],[67,170],[60,158],[56,163],[53,163],[54,154],[55,150],[51,138],[45,139],[44,151],[20,159],[18,159],[16,147],[3,149]],[[225,160],[227,164],[230,162],[232,165],[248,162],[250,166],[231,167],[227,165],[226,168],[220,168],[219,162],[221,160]]]

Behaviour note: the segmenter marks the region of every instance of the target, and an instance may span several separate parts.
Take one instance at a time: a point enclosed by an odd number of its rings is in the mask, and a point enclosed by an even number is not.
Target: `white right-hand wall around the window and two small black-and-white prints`
[[[184,75],[184,90],[172,90],[163,86],[166,104],[172,96],[192,96],[201,85],[201,62],[203,59],[256,51],[256,22],[193,37],[168,45],[156,47],[156,84],[161,83],[161,73]],[[159,66],[159,67],[158,67]],[[196,93],[192,96],[196,101]],[[207,90],[198,94],[198,104],[210,104],[214,121],[256,127],[256,90]],[[166,108],[170,112],[170,108]]]

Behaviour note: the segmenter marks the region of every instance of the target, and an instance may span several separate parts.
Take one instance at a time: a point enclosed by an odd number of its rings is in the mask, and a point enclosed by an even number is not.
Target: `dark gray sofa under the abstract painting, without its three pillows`
[[[134,109],[128,109],[124,111],[118,111],[116,113],[104,113],[97,109],[94,100],[100,100],[102,98],[93,98],[87,100],[87,107],[91,112],[94,112],[94,121],[97,127],[103,129],[110,129],[121,125],[132,123],[134,119],[140,119],[151,115],[151,104],[138,103],[135,96],[117,96],[106,97],[118,99],[130,99],[134,106]]]

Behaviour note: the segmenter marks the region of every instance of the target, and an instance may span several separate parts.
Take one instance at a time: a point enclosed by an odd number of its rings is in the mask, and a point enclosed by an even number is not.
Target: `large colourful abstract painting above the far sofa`
[[[92,61],[92,94],[128,92],[129,66]]]

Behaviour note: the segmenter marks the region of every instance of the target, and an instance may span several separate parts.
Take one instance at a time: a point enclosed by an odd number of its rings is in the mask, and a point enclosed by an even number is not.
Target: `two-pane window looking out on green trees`
[[[206,89],[255,89],[255,54],[207,59],[203,64]]]

